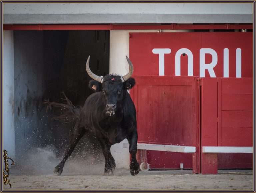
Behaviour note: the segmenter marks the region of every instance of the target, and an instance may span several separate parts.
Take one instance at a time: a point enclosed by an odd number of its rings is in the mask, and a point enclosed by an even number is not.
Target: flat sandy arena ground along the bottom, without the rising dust
[[[75,169],[76,170],[76,169]],[[85,171],[84,169],[82,169]],[[114,176],[103,176],[103,167],[90,166],[87,174],[64,169],[61,176],[10,174],[15,190],[252,190],[252,170],[219,170],[218,175],[192,174],[192,170],[148,171],[132,176],[127,169],[116,169]],[[88,171],[90,171],[88,174]],[[85,171],[86,172],[86,171]]]

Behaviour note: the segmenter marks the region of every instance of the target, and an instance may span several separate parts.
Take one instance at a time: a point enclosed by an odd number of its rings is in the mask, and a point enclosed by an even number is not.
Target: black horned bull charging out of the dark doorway
[[[131,154],[130,172],[132,175],[139,173],[139,164],[136,160],[137,153],[137,121],[134,103],[127,92],[135,85],[133,66],[129,58],[129,73],[125,76],[106,75],[99,77],[89,69],[89,59],[86,63],[88,74],[94,79],[89,82],[89,87],[95,91],[85,101],[85,104],[76,120],[73,134],[65,151],[63,160],[55,167],[54,172],[61,175],[67,158],[73,152],[78,141],[88,130],[96,134],[103,155],[105,157],[104,174],[113,174],[116,167],[115,160],[110,152],[113,144],[125,138],[129,142]]]

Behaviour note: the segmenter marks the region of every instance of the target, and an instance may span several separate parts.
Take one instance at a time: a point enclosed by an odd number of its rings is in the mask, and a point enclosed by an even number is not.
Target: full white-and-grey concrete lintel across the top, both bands
[[[252,23],[253,3],[3,3],[4,24]]]

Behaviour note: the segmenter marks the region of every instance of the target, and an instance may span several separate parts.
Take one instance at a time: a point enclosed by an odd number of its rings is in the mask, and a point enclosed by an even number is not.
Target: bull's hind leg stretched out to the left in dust
[[[83,135],[86,132],[87,132],[87,130],[85,128],[77,128],[76,126],[74,127],[74,131],[73,131],[72,137],[70,139],[70,143],[69,143],[68,147],[66,148],[64,158],[54,169],[54,172],[57,175],[61,175],[67,158],[71,155],[71,153],[73,152],[78,141],[83,137]]]

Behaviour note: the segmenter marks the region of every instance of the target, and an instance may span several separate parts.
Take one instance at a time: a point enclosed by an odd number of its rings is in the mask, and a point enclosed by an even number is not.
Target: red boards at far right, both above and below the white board
[[[219,78],[219,146],[252,146],[252,78]],[[219,153],[219,168],[252,168],[252,154]]]

